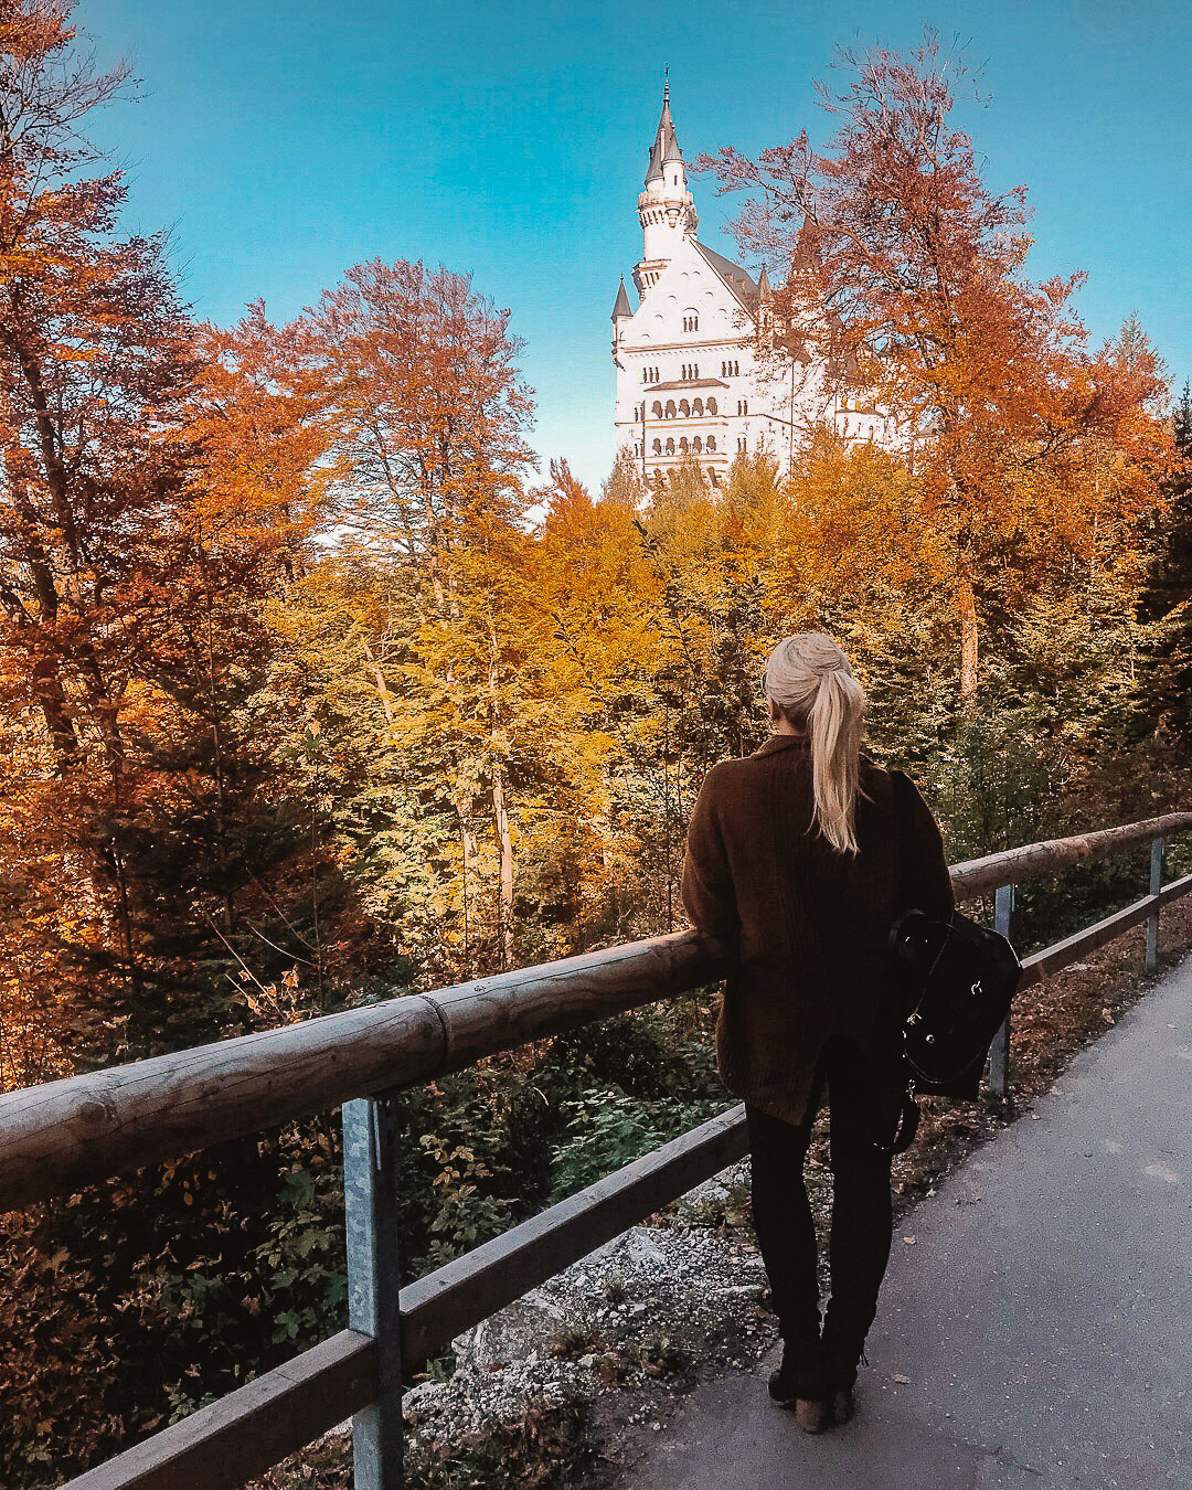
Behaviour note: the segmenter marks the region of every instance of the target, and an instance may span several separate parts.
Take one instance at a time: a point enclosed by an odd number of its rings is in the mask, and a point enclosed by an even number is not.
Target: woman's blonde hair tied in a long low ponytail
[[[811,736],[815,815],[822,836],[845,854],[858,851],[857,790],[866,694],[830,636],[784,636],[761,673],[766,696]]]

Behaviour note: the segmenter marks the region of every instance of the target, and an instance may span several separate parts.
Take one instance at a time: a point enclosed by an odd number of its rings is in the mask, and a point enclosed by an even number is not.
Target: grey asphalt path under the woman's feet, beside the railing
[[[635,1490],[1188,1490],[1191,1129],[1185,958],[895,1228],[851,1423],[775,1408],[775,1354],[697,1387]]]

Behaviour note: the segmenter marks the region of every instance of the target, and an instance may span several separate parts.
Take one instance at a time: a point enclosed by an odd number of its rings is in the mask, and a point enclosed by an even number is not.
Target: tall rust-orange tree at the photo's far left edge
[[[57,878],[58,936],[110,945],[134,979],[127,864],[94,805],[130,805],[122,618],[137,545],[182,481],[161,431],[177,423],[189,346],[164,240],[115,238],[121,174],[86,174],[98,155],[77,127],[127,69],[79,64],[73,36],[63,6],[4,4],[0,687],[21,732],[7,808],[18,854],[40,852],[40,821],[42,843],[60,830],[60,863],[82,867]],[[36,904],[36,884],[15,884]],[[69,963],[58,971],[67,982]]]

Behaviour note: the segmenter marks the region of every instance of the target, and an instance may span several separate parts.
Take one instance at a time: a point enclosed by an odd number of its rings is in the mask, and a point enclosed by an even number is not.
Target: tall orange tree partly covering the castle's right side
[[[779,271],[776,322],[901,432],[924,522],[949,547],[970,700],[982,611],[1012,612],[1058,554],[1155,499],[1156,368],[1086,349],[1082,274],[1027,277],[1025,188],[991,191],[952,119],[960,58],[928,34],[906,58],[842,61],[843,88],[821,86],[827,149],[805,131],[700,164],[749,198],[735,231]]]

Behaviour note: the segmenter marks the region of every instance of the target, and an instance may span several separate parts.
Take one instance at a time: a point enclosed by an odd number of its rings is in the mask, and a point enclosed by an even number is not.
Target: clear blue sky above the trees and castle
[[[611,463],[609,311],[641,256],[636,194],[662,70],[679,142],[822,140],[812,80],[840,45],[966,43],[994,188],[1025,182],[1037,277],[1083,268],[1094,337],[1137,310],[1192,375],[1192,85],[1174,0],[744,6],[426,0],[82,0],[100,60],[131,54],[136,104],[92,133],[133,174],[127,222],[171,225],[198,313],[262,297],[285,319],[367,258],[471,270],[513,310],[535,448],[597,483]],[[700,237],[729,201],[693,183]]]

